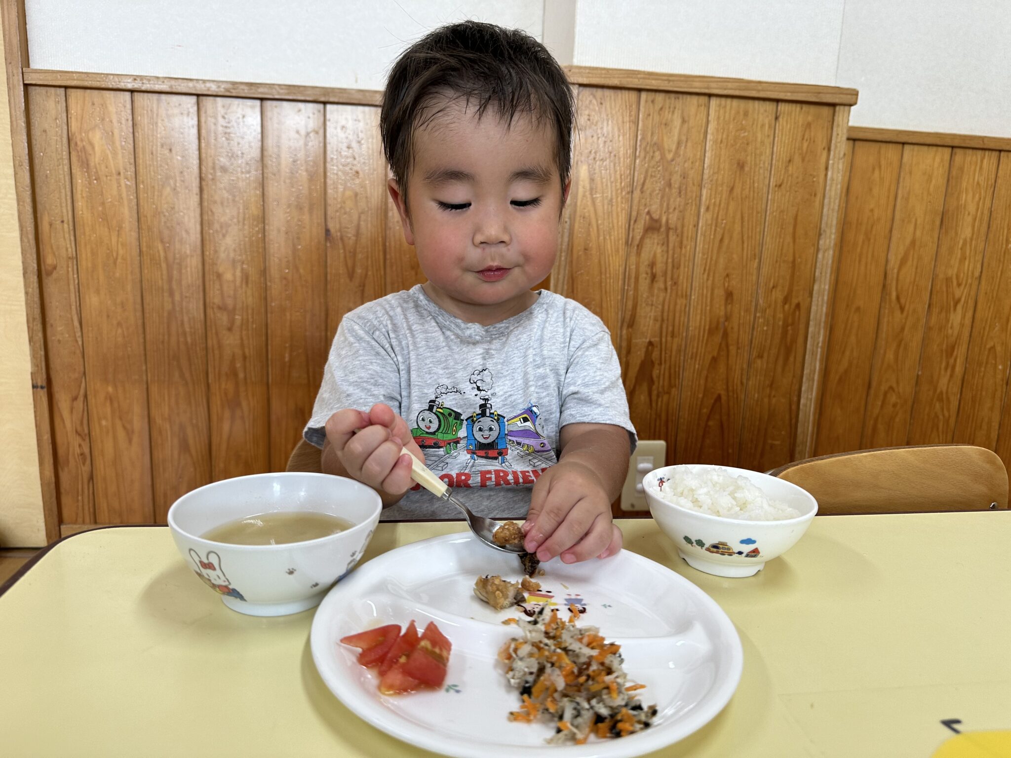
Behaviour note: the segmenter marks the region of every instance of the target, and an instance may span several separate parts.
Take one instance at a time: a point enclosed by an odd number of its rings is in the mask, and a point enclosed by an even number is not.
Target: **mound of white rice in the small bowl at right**
[[[653,493],[682,508],[724,518],[748,522],[775,522],[796,518],[801,513],[778,500],[770,500],[747,477],[726,469],[677,469]]]

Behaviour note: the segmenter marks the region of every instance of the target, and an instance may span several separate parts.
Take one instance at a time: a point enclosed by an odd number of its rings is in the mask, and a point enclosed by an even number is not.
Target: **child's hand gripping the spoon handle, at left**
[[[384,403],[366,413],[345,408],[327,419],[327,440],[349,476],[391,495],[402,495],[411,486],[410,458],[425,460],[407,423]]]

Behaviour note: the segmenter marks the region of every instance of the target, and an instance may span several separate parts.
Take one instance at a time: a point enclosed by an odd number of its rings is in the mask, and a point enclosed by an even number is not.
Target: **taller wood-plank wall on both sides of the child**
[[[855,92],[580,76],[552,288],[670,462],[803,457]],[[25,80],[62,522],[282,470],[343,314],[423,280],[374,96]]]

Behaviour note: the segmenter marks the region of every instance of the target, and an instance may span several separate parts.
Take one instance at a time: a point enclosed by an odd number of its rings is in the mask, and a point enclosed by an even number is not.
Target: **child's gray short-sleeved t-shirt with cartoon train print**
[[[558,455],[568,423],[628,430],[618,356],[604,322],[574,300],[537,302],[482,326],[443,310],[421,285],[348,313],[334,338],[305,428],[318,448],[342,408],[384,402],[399,413],[429,468],[475,513],[523,518],[530,490]],[[382,518],[456,518],[415,485]]]

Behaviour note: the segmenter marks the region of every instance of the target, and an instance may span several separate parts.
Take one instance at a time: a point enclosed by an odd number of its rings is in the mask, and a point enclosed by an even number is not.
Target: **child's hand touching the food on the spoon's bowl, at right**
[[[622,549],[603,480],[576,461],[560,461],[541,474],[523,529],[525,549],[541,561],[560,555],[563,563],[578,563]]]

